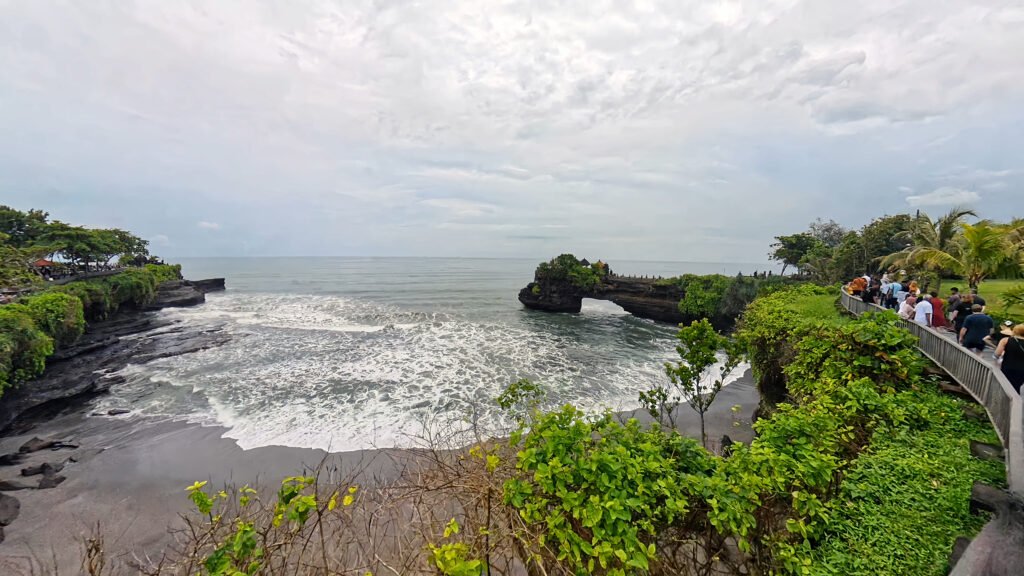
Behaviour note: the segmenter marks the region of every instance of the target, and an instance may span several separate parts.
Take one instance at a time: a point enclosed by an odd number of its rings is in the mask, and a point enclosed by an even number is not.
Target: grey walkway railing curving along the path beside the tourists
[[[842,292],[841,299],[843,307],[856,316],[885,310],[846,291]],[[956,340],[915,322],[900,320],[900,324],[918,337],[918,348],[925,356],[985,407],[988,419],[1002,442],[1010,490],[1024,496],[1024,402],[1020,395],[998,368],[969,352]]]

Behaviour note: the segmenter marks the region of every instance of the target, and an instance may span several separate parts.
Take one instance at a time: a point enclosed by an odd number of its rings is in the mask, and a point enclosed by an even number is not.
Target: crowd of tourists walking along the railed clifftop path
[[[1020,393],[1024,383],[1024,324],[1006,321],[998,331],[995,321],[985,314],[985,298],[972,288],[962,294],[950,288],[945,298],[938,291],[922,291],[918,281],[861,276],[846,285],[846,290],[861,300],[897,312],[900,318],[951,333],[964,347],[981,356],[986,346],[994,346],[993,360]]]

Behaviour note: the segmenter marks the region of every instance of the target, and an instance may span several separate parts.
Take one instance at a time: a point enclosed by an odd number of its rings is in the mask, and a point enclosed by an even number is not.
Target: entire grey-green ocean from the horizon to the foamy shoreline
[[[220,425],[242,448],[340,452],[415,446],[430,422],[500,419],[496,396],[518,378],[554,406],[631,410],[667,381],[672,326],[610,302],[579,315],[516,298],[537,260],[195,258],[185,278],[227,291],[172,320],[226,330],[227,344],[131,365],[99,410]],[[612,261],[617,274],[749,274],[764,264]],[[742,370],[737,370],[738,377]]]

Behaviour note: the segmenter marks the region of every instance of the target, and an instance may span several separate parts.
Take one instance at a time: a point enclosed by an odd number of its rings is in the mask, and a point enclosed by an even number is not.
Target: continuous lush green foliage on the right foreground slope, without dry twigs
[[[569,573],[596,566],[607,574],[642,573],[652,565],[684,573],[679,562],[690,569],[703,562],[703,569],[715,564],[727,573],[783,574],[878,574],[899,565],[912,568],[906,573],[941,574],[944,566],[931,560],[947,556],[956,535],[980,524],[967,513],[971,484],[999,475],[998,466],[971,460],[967,439],[992,433],[967,423],[959,403],[924,380],[914,338],[895,315],[836,320],[829,292],[801,287],[751,306],[746,341],[784,342],[792,351],[782,367],[790,395],[757,422],[754,442],[735,445],[729,457],[707,455],[691,441],[635,421],[588,418],[571,407],[538,413],[513,438],[519,474],[505,486],[507,503],[529,533],[541,534],[534,551],[544,565]],[[791,303],[819,316],[792,322]],[[757,325],[762,318],[771,324]],[[894,439],[923,435],[932,444],[910,445],[920,454],[941,450],[941,462],[953,469],[921,474],[936,464],[892,457],[899,454]],[[861,461],[862,451],[870,459]],[[890,490],[892,478],[902,491],[940,501],[903,500]],[[868,494],[874,498],[862,498]],[[906,518],[856,516],[887,513],[896,500]],[[890,533],[873,537],[870,523]],[[913,530],[925,523],[934,538],[922,542]],[[733,539],[740,554],[727,550]],[[700,551],[684,552],[679,542]],[[870,554],[850,554],[867,545]],[[909,560],[900,565],[899,559]]]

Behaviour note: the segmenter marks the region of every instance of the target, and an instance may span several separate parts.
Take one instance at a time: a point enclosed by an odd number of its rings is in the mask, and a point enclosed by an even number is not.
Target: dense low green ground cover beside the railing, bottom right
[[[997,439],[987,424],[962,417],[963,402],[934,389],[899,396],[927,417],[874,431],[810,557],[813,574],[945,574],[951,542],[985,522],[970,513],[972,484],[1005,482],[1000,462],[971,456],[970,440]]]

